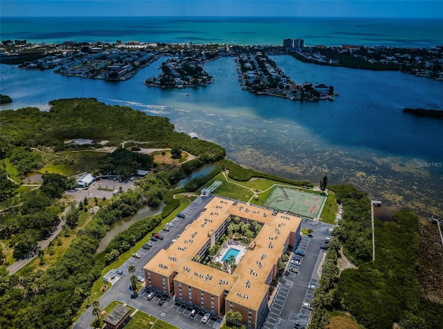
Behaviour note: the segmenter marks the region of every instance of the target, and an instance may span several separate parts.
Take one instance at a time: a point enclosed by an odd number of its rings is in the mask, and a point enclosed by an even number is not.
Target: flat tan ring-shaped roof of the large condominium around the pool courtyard
[[[264,224],[233,274],[192,261],[228,216]],[[229,291],[227,300],[258,310],[269,291],[270,273],[278,270],[274,267],[300,223],[298,216],[215,197],[177,241],[158,252],[144,268],[163,276],[176,272],[175,280],[217,296]]]

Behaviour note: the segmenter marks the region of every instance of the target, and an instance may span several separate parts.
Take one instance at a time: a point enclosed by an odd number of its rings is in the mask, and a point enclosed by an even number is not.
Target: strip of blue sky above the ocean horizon
[[[1,0],[0,15],[443,18],[443,0]]]

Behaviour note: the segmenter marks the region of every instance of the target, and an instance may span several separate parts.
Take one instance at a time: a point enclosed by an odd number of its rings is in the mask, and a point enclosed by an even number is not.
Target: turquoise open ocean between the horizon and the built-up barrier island
[[[194,44],[428,47],[443,44],[442,19],[307,17],[2,17],[1,39],[30,42],[137,40]]]

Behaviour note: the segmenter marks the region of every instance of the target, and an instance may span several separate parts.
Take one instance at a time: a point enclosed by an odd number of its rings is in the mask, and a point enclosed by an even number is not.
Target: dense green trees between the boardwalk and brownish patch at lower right
[[[377,221],[375,261],[344,270],[334,302],[369,329],[392,328],[394,322],[401,328],[441,328],[443,305],[419,291],[418,218],[404,209],[393,219]]]

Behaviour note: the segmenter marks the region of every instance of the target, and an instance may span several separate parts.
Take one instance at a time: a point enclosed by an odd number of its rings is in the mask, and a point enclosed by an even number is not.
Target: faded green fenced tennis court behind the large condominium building
[[[275,185],[263,205],[282,212],[318,218],[325,196]]]

